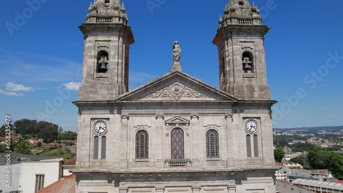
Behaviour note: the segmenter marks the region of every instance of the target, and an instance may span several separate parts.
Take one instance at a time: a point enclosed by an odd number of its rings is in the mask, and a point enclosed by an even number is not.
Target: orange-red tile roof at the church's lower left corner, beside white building
[[[75,193],[76,192],[76,177],[70,175],[60,180],[51,183],[47,187],[39,190],[37,193]]]

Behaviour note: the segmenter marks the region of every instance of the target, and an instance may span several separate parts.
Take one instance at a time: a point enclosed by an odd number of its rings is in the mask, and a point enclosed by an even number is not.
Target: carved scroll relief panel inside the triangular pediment
[[[200,92],[193,90],[191,88],[188,88],[187,86],[182,85],[181,83],[173,83],[170,86],[167,86],[166,88],[163,88],[163,90],[158,90],[157,92],[154,92],[153,94],[150,94],[149,96],[145,97],[147,99],[149,98],[171,98],[175,101],[179,101],[181,98],[209,98],[204,94],[201,94]]]

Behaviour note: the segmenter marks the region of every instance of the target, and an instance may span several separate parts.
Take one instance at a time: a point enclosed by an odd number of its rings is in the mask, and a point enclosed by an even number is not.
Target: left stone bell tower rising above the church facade
[[[119,0],[96,0],[88,8],[80,101],[113,100],[128,92],[129,52],[134,42]]]

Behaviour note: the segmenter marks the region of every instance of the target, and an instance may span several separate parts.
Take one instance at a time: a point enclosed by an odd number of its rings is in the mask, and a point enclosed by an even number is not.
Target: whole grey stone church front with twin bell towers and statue
[[[220,89],[171,71],[128,90],[126,8],[88,8],[78,106],[77,192],[275,192],[271,106],[256,5],[230,0],[213,44]]]

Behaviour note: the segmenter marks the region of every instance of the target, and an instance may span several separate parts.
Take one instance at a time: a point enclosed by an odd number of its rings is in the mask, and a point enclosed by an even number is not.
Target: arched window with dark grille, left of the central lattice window
[[[136,158],[149,157],[149,136],[147,131],[141,130],[136,134]]]

